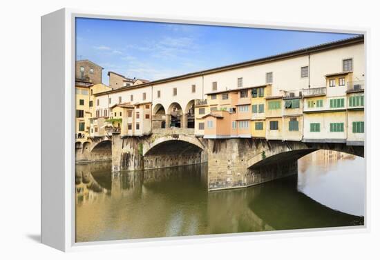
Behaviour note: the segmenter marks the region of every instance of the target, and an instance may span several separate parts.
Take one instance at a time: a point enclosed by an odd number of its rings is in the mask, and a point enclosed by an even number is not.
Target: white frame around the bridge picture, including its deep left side
[[[242,241],[267,237],[294,237],[325,234],[368,232],[370,214],[370,170],[366,169],[365,226],[349,228],[316,228],[271,232],[246,232],[238,234],[212,234],[160,239],[131,239],[75,243],[75,18],[122,19],[193,23],[218,26],[239,26],[287,30],[345,32],[364,34],[365,66],[368,64],[368,28],[334,28],[302,26],[291,23],[267,23],[260,21],[221,21],[192,17],[142,17],[135,14],[101,13],[88,10],[61,9],[41,17],[41,242],[62,251],[102,248],[128,248],[154,245],[202,243],[207,241]],[[368,70],[366,70],[368,72]],[[368,82],[368,73],[365,74]],[[365,91],[368,100],[370,88]],[[368,112],[365,112],[366,129],[370,129]],[[369,150],[366,132],[365,152]],[[53,145],[50,140],[55,139]],[[365,157],[366,164],[368,163]],[[54,183],[54,185],[51,185]]]

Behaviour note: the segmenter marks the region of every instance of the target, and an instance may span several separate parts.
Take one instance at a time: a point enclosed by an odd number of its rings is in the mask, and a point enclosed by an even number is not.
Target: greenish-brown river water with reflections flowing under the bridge
[[[207,164],[111,173],[76,166],[76,241],[363,225],[365,161],[320,150],[298,174],[207,192]]]

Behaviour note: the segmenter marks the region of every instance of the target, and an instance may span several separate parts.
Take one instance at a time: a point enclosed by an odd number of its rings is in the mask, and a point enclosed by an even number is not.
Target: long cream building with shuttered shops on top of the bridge
[[[218,124],[229,125],[227,138],[363,145],[363,41],[363,36],[353,37],[98,93],[96,114],[109,115],[120,103],[150,103],[150,132],[193,128],[202,137],[207,132],[207,115],[211,121],[223,120],[215,116],[222,111],[218,114],[230,123]],[[254,97],[259,87],[266,94]],[[206,137],[226,138],[225,130],[220,131]]]

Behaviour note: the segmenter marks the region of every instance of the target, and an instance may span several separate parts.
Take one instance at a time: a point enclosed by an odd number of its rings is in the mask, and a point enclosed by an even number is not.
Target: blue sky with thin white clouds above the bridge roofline
[[[163,79],[354,37],[354,34],[79,18],[77,59],[107,72]]]

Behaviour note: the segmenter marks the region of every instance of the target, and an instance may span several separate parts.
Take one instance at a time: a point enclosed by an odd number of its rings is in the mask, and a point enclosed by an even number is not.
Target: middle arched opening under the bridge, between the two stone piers
[[[144,169],[202,163],[202,148],[182,140],[163,141],[144,154]]]

